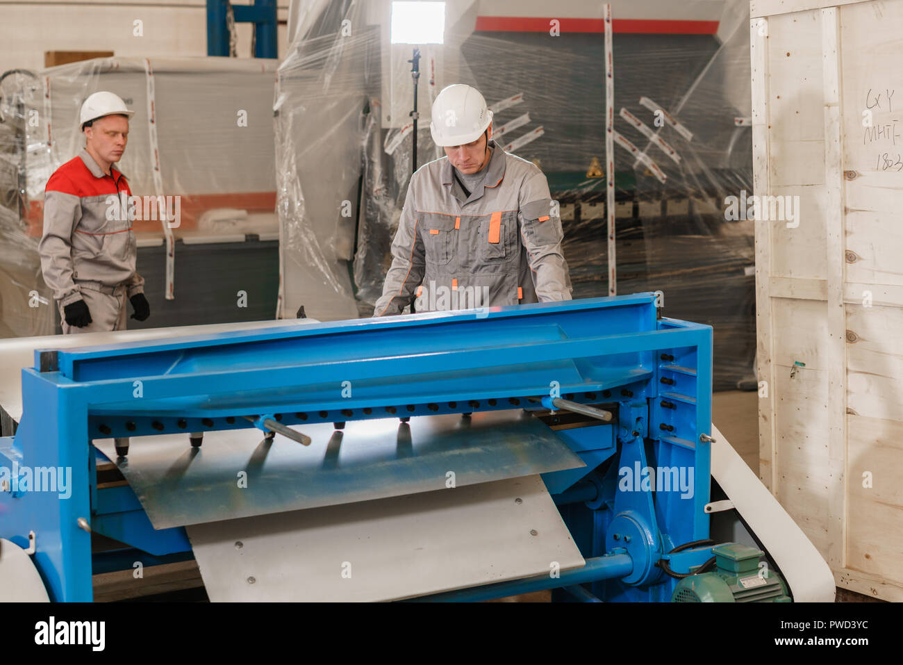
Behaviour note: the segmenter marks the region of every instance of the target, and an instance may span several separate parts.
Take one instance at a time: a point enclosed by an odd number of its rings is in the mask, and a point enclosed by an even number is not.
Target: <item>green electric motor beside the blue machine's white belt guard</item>
[[[684,577],[672,603],[789,603],[787,585],[768,567],[759,568],[764,553],[740,543],[712,548],[715,569]]]

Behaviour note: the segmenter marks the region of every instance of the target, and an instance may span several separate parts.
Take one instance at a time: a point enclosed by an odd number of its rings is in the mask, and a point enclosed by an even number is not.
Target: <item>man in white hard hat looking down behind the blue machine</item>
[[[446,156],[411,177],[374,315],[570,300],[545,175],[492,140],[479,90],[443,89],[430,130]]]

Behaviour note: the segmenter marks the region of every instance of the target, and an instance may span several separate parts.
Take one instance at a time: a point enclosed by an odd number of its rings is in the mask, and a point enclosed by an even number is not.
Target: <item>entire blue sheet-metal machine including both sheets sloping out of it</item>
[[[712,556],[676,547],[709,535],[712,331],[655,301],[38,348],[0,538],[51,600],[191,557],[213,600],[669,600],[658,564]]]

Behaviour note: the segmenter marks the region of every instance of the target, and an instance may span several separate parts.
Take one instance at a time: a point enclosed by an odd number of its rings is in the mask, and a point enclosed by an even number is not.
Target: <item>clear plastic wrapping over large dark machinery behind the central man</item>
[[[481,90],[499,145],[543,169],[561,204],[573,296],[608,295],[607,173],[592,167],[605,161],[603,5],[577,5],[573,15],[585,18],[565,19],[558,39],[548,20],[524,18],[526,8],[511,5],[517,18],[487,17],[483,5],[447,2],[444,43],[421,48],[414,136],[412,52],[386,43],[389,5],[293,3],[299,24],[276,102],[285,313],[305,304],[322,319],[371,315],[414,142],[418,166],[444,155],[423,118],[452,83]],[[715,389],[735,389],[752,378],[755,354],[753,224],[725,215],[729,197],[752,192],[750,128],[735,122],[749,117],[749,3],[664,4],[656,18],[673,33],[621,31],[644,11],[613,7],[614,128],[654,160],[666,183],[616,146],[618,293],[666,291],[665,314],[712,325]],[[684,22],[669,21],[688,11],[704,16],[708,30],[682,34]],[[332,161],[324,166],[326,140]],[[301,286],[309,281],[323,291],[309,295]]]

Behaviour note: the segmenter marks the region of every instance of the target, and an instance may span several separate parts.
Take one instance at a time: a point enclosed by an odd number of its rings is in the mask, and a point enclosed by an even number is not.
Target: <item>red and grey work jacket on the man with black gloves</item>
[[[63,164],[44,191],[44,231],[38,252],[44,281],[66,305],[81,298],[81,288],[126,286],[131,297],[144,292],[135,272],[135,233],[123,195],[126,176],[100,170],[88,151]]]

